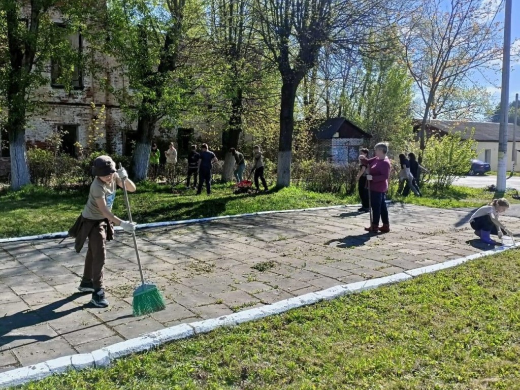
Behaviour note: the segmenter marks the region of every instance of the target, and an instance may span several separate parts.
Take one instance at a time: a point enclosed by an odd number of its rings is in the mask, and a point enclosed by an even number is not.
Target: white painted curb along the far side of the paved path
[[[387,204],[392,203],[392,201],[386,201]],[[281,213],[295,213],[298,211],[318,211],[318,210],[331,210],[331,209],[341,209],[342,207],[359,207],[361,204],[342,204],[337,206],[324,206],[324,207],[310,207],[309,209],[293,209],[293,210],[271,210],[271,211],[258,211],[256,213],[246,213],[246,214],[235,214],[235,215],[220,215],[218,217],[207,217],[207,218],[196,218],[196,219],[181,219],[181,220],[173,220],[173,221],[165,221],[165,222],[153,222],[150,224],[140,224],[136,226],[136,229],[149,229],[155,227],[164,227],[164,226],[175,226],[175,225],[188,225],[188,224],[199,224],[202,222],[210,222],[212,220],[217,219],[229,219],[229,218],[241,218],[241,217],[253,217],[255,215],[266,215],[266,214],[281,214]],[[123,231],[123,229],[119,226],[114,227],[115,231]],[[44,235],[37,236],[24,236],[24,237],[12,237],[12,238],[1,238],[0,244],[8,243],[8,242],[18,242],[18,241],[36,241],[36,240],[54,240],[57,238],[66,238],[69,235],[66,231],[58,231],[55,233],[45,233]]]

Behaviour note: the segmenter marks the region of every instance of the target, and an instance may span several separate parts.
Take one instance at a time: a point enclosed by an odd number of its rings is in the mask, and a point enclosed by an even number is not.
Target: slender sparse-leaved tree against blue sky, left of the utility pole
[[[494,16],[490,10],[496,10]],[[493,69],[492,61],[502,57],[497,12],[496,2],[489,0],[421,0],[417,12],[396,32],[404,47],[403,59],[421,94],[421,150],[426,146],[425,130],[432,114],[453,112],[458,109],[453,107],[457,101],[465,105],[464,99],[452,99],[454,90],[473,72]]]

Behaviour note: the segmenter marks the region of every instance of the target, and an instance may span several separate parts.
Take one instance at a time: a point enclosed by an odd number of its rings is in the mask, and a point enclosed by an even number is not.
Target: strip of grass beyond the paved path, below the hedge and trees
[[[168,186],[151,183],[139,184],[137,188],[129,197],[133,219],[141,224],[359,202],[356,195],[317,193],[298,187],[268,194],[235,195],[231,186],[215,185],[210,197],[205,192],[197,197],[193,190],[179,189],[172,192]],[[494,196],[481,189],[466,187],[451,187],[445,194],[437,194],[426,187],[423,192],[423,198],[411,194],[407,198],[396,197],[395,200],[446,209],[479,207]],[[28,186],[16,192],[4,189],[0,191],[0,238],[68,230],[83,210],[87,197],[88,188],[57,191]],[[121,218],[126,216],[121,189],[118,190],[113,212]]]

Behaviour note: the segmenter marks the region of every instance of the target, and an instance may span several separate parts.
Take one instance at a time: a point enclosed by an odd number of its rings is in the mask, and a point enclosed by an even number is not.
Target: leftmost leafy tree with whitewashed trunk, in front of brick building
[[[0,0],[0,101],[7,112],[3,127],[9,136],[11,186],[19,189],[30,183],[25,146],[28,116],[40,106],[38,87],[49,82],[45,77],[51,58],[81,66],[81,55],[68,44],[71,33],[85,31],[90,12],[97,2]],[[51,12],[63,16],[55,23]],[[62,67],[61,80],[71,88],[74,67]],[[2,114],[0,114],[2,115]]]

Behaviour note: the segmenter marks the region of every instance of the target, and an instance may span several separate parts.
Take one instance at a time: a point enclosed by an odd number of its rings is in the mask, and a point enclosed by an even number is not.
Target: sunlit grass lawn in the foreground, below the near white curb
[[[510,250],[22,388],[518,389],[519,274]]]

